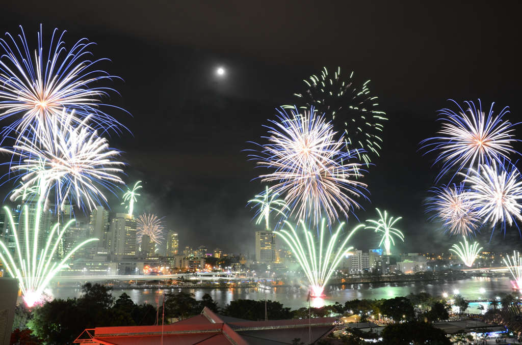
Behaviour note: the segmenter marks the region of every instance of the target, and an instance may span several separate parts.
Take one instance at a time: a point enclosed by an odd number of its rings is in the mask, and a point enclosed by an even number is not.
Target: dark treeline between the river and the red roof
[[[179,292],[167,293],[160,300],[160,306],[136,304],[122,293],[115,299],[112,289],[90,283],[82,287],[80,298],[55,299],[45,302],[31,311],[23,306],[17,307],[11,343],[71,343],[86,328],[100,326],[133,326],[168,324],[201,313],[206,306],[213,312],[248,320],[265,319],[265,301],[235,300],[220,309],[209,294],[196,300],[193,294]],[[306,307],[291,310],[276,301],[266,301],[269,319],[307,318]],[[359,314],[365,319],[386,317],[395,321],[416,321],[424,317],[430,321],[447,319],[447,304],[428,293],[408,297],[383,300],[353,300],[344,304],[335,303],[322,308],[311,308],[312,317],[349,316]]]

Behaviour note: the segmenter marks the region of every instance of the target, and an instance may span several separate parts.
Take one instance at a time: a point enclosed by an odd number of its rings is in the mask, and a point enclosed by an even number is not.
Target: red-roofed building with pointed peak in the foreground
[[[208,308],[201,314],[164,326],[96,327],[86,329],[77,344],[103,345],[281,345],[295,338],[314,343],[335,328],[335,317],[248,321],[222,316]],[[309,324],[310,323],[310,324]]]

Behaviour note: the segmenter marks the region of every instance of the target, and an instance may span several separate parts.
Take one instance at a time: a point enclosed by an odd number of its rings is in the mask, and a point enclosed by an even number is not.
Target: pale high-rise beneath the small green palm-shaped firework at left
[[[109,230],[111,254],[136,255],[136,219],[127,213],[116,213]]]

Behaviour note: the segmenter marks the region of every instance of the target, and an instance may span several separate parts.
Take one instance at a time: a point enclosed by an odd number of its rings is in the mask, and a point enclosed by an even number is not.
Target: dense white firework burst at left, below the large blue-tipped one
[[[123,172],[124,163],[115,161],[120,152],[109,147],[106,139],[98,137],[96,130],[87,125],[87,116],[78,125],[74,122],[74,111],[50,122],[51,131],[33,142],[31,137],[22,136],[12,149],[0,151],[20,157],[20,163],[12,165],[18,172],[23,188],[16,189],[11,199],[20,191],[31,186],[42,186],[40,196],[49,201],[52,190],[56,205],[63,209],[67,200],[76,200],[81,208],[92,210],[106,197],[100,188],[112,192],[112,187],[123,184],[117,175]],[[30,130],[35,130],[29,125]],[[98,185],[100,187],[98,187]]]

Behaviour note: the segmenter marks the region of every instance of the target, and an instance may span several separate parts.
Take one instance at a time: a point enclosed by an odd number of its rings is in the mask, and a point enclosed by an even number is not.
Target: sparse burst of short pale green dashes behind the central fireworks
[[[353,72],[341,77],[341,68],[331,73],[323,67],[319,76],[303,80],[306,90],[294,93],[296,103],[314,106],[319,114],[326,114],[345,128],[345,141],[350,148],[358,148],[359,160],[370,164],[371,155],[381,150],[383,122],[386,113],[377,110],[377,97],[370,94],[370,80],[356,87]]]

